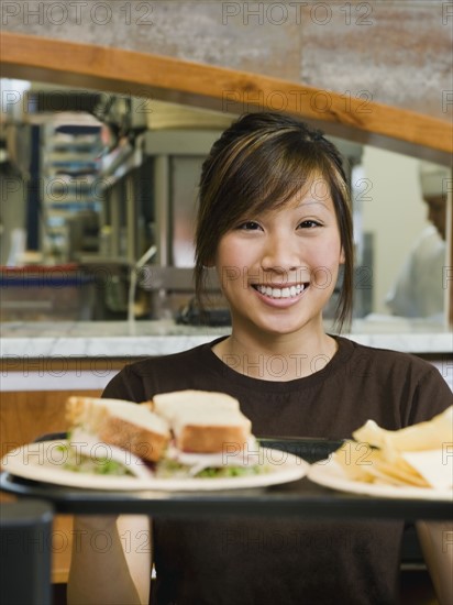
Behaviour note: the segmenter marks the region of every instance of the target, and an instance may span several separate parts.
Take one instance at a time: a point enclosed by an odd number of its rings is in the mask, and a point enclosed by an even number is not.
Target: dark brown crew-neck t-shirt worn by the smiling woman
[[[336,338],[320,371],[289,382],[253,378],[211,346],[126,366],[104,397],[142,402],[156,393],[198,388],[240,400],[257,437],[350,438],[367,419],[399,429],[453,403],[439,371],[422,360]],[[225,363],[224,363],[225,362]],[[247,360],[259,371],[259,358]],[[281,375],[298,360],[275,356]],[[303,521],[265,517],[154,519],[158,605],[395,604],[399,521]]]

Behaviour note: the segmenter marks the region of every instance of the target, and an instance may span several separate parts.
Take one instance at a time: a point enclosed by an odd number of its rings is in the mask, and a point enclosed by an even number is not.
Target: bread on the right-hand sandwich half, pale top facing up
[[[161,393],[153,405],[170,424],[176,447],[186,452],[222,452],[232,443],[243,449],[251,436],[252,422],[241,413],[237,399],[225,393]]]

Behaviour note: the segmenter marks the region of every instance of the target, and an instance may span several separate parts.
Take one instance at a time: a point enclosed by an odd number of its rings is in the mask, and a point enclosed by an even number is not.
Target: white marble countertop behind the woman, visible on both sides
[[[229,328],[178,326],[172,320],[7,322],[0,356],[136,358],[184,351],[229,333]],[[453,332],[438,323],[386,316],[355,320],[344,336],[371,346],[409,353],[453,354]]]

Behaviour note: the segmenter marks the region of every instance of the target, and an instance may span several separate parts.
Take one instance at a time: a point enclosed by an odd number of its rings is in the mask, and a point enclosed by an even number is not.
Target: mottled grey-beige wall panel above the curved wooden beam
[[[1,13],[4,31],[267,74],[342,92],[345,103],[452,114],[452,2],[19,0]]]

